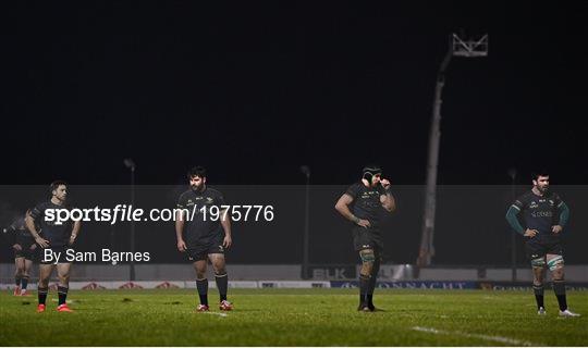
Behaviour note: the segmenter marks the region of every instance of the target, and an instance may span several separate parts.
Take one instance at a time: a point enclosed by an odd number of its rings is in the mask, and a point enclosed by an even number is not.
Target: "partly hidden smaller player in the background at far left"
[[[29,211],[26,212],[27,214]],[[26,215],[25,215],[26,216]],[[35,258],[37,245],[35,238],[28,232],[25,217],[20,217],[7,228],[12,249],[14,250],[14,296],[28,296],[26,287],[28,285],[29,271]]]

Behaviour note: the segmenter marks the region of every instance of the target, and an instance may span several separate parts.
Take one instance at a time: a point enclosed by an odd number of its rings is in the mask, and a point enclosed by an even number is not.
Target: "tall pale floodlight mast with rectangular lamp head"
[[[425,212],[422,219],[422,234],[417,265],[428,266],[434,257],[434,212],[437,203],[437,166],[439,162],[439,141],[441,139],[441,103],[442,91],[445,84],[445,71],[452,57],[486,57],[488,55],[488,35],[478,40],[463,40],[456,34],[450,38],[450,45],[439,71],[434,88],[431,128],[429,132],[429,159],[427,161],[427,187],[425,190]]]

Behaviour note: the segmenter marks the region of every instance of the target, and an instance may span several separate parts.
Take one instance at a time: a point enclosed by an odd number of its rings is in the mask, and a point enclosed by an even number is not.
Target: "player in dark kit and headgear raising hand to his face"
[[[381,175],[377,165],[364,167],[362,179],[350,186],[335,204],[336,211],[353,223],[353,245],[362,259],[357,308],[360,311],[376,310],[373,289],[383,250],[381,219],[385,212],[396,209],[390,182]]]

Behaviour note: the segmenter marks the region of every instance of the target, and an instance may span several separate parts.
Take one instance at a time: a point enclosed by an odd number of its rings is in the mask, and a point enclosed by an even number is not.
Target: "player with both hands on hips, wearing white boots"
[[[532,175],[532,189],[518,197],[509,209],[506,220],[514,231],[525,238],[525,250],[531,262],[532,288],[538,313],[546,314],[543,304],[544,269],[551,271],[553,291],[560,304],[561,316],[579,316],[567,309],[564,283],[564,260],[561,244],[562,231],[569,217],[569,209],[555,192],[549,189],[547,173]],[[525,226],[522,226],[520,215]]]

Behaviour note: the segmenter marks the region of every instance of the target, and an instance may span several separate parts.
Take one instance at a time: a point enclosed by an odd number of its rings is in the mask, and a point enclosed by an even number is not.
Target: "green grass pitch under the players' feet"
[[[558,316],[552,291],[538,316],[531,293],[377,290],[373,313],[356,289],[232,289],[235,310],[195,312],[196,290],[71,291],[73,313],[36,313],[36,295],[0,291],[0,346],[586,346],[588,293],[569,291],[581,318]],[[218,295],[209,295],[216,303]]]

